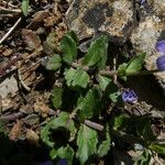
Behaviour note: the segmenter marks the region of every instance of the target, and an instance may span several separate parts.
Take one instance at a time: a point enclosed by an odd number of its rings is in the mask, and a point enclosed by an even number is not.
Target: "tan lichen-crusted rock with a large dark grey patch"
[[[80,38],[102,32],[113,41],[123,42],[136,21],[129,0],[75,0],[67,11],[66,22]]]

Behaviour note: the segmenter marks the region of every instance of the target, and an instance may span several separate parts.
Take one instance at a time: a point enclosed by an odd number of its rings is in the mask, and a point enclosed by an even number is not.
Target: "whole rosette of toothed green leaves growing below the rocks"
[[[95,157],[107,155],[111,146],[110,133],[113,133],[110,131],[109,121],[103,122],[106,129],[102,130],[100,136],[97,130],[86,125],[86,120],[102,122],[99,117],[102,112],[106,113],[107,102],[120,107],[123,102],[120,89],[112,80],[113,75],[111,73],[105,75],[108,72],[108,37],[101,35],[94,40],[84,55],[79,54],[78,45],[76,34],[68,32],[61,41],[62,53],[48,59],[46,68],[54,70],[58,80],[52,91],[52,105],[55,110],[59,111],[59,114],[51,119],[42,129],[41,138],[51,147],[53,160],[66,158],[68,164],[79,162],[84,165],[92,162]],[[142,54],[120,65],[116,72],[117,76],[123,78],[132,73],[139,73],[144,57],[145,54]],[[110,127],[114,131],[121,131],[120,129],[124,125],[123,121],[127,122],[129,129],[128,123],[132,121],[122,118],[116,118]],[[63,129],[68,132],[64,134],[67,136],[66,142],[56,143],[58,133],[54,139],[52,135]],[[136,135],[154,139],[145,133],[147,129],[130,128],[129,131],[127,130],[127,133],[136,131]],[[151,145],[151,147],[154,146]]]

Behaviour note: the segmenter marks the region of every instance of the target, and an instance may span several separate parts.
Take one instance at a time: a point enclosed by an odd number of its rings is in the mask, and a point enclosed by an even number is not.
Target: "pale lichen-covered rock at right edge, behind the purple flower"
[[[147,69],[156,69],[158,53],[155,50],[157,41],[165,38],[165,1],[148,0],[147,4],[141,8],[142,18],[139,26],[130,37],[133,47],[138,52],[146,52],[145,66]],[[165,91],[165,72],[155,74]]]

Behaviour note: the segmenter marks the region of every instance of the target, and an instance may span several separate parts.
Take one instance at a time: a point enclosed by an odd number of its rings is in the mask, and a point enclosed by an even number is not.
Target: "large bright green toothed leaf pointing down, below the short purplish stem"
[[[81,124],[77,136],[78,151],[76,153],[77,157],[80,161],[80,165],[84,165],[89,156],[97,153],[97,132]]]

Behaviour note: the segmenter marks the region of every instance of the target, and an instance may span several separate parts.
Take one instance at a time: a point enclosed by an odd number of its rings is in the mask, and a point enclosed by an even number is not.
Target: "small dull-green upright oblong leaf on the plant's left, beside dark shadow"
[[[52,92],[52,103],[55,109],[59,109],[62,107],[63,99],[63,87],[55,87]]]

